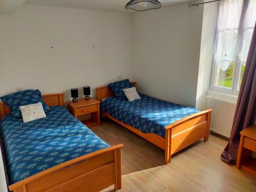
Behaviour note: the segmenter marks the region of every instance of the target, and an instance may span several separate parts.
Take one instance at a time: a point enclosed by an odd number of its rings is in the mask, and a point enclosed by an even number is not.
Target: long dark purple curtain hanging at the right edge
[[[221,160],[234,164],[237,162],[240,132],[254,123],[256,115],[256,23],[246,60],[244,76],[234,113],[232,131],[229,142],[221,154]]]

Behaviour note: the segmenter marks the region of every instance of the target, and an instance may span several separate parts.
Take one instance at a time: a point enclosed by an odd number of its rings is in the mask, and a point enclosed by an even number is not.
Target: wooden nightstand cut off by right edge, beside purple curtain
[[[251,125],[240,134],[237,168],[256,175],[256,159],[251,157],[251,152],[256,152],[256,125]]]

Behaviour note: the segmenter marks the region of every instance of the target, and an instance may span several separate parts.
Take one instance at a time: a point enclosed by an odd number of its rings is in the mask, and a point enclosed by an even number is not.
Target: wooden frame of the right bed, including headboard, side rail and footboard
[[[132,84],[136,87],[136,82],[132,82]],[[99,101],[103,98],[114,96],[107,86],[96,88],[96,92]],[[212,109],[201,111],[165,126],[165,138],[162,138],[155,133],[142,133],[138,129],[128,124],[124,124],[104,111],[102,111],[102,115],[105,115],[142,138],[162,148],[165,151],[165,164],[167,164],[170,163],[173,154],[188,145],[195,143],[202,138],[204,138],[204,142],[208,141],[211,111]]]

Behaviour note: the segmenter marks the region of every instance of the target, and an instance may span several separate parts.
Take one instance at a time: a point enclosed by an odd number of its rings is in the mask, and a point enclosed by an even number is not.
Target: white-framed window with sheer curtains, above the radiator
[[[239,93],[256,20],[256,0],[219,2],[210,88]]]

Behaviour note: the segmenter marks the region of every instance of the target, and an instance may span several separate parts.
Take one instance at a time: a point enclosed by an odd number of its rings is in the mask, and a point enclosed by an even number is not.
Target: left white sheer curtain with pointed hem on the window
[[[239,42],[239,23],[242,0],[226,0],[219,3],[214,58],[222,71],[236,60]]]

